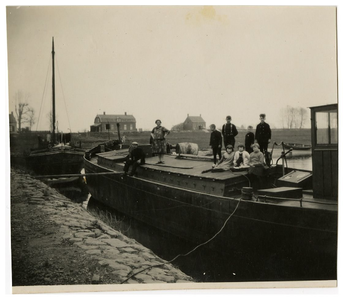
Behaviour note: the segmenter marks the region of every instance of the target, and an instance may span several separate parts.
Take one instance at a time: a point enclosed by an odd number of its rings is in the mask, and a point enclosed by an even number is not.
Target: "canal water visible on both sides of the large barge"
[[[312,168],[310,154],[288,156],[287,163],[289,167],[298,169]],[[85,202],[85,206],[90,213],[110,223],[110,226],[124,235],[137,240],[161,258],[169,261],[181,255],[173,261],[173,265],[199,282],[315,280],[322,279],[321,276],[324,279],[331,276],[326,273],[326,262],[324,262],[322,268],[324,272],[319,277],[319,266],[316,270],[312,270],[314,258],[311,257],[303,257],[301,266],[299,258],[284,257],[281,253],[254,253],[251,249],[248,249],[249,251],[237,249],[221,254],[210,251],[204,246],[183,256],[197,245],[138,222],[97,202],[92,197]],[[254,245],[252,247],[254,248]],[[304,267],[305,265],[307,268]]]

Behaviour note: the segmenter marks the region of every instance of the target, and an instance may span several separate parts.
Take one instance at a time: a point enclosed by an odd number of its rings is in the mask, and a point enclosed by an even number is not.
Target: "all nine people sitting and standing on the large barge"
[[[209,145],[212,148],[214,164],[211,169],[204,170],[203,173],[223,172],[230,170],[232,167],[249,168],[264,166],[264,154],[267,152],[268,144],[271,140],[271,129],[269,124],[265,122],[265,114],[260,114],[259,118],[260,123],[256,126],[256,132],[253,133],[253,127],[248,126],[245,144],[240,143],[237,146],[237,151],[234,151],[234,147],[238,130],[232,123],[231,116],[226,117],[226,123],[223,124],[221,131],[216,129],[215,124],[211,124]],[[164,164],[164,155],[167,152],[166,136],[170,134],[170,131],[161,126],[161,123],[160,119],[155,121],[156,126],[151,131],[150,136],[152,153],[158,156],[157,164]],[[222,142],[225,147],[224,153],[222,153]],[[217,160],[217,157],[219,160]],[[129,175],[135,174],[137,167],[144,163],[145,154],[143,150],[138,148],[137,142],[133,142],[126,159],[125,174],[127,174],[130,166],[132,166],[132,170]]]

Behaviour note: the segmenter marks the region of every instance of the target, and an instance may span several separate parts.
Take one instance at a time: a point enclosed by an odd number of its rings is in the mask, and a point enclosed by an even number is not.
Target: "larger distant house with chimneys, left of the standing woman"
[[[117,123],[120,124],[120,130],[136,131],[136,119],[133,115],[107,115],[105,112],[102,115],[97,115],[94,119],[94,124],[91,125],[91,132],[107,132],[116,131]]]

